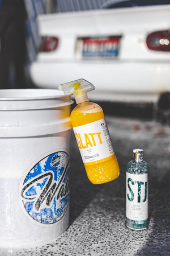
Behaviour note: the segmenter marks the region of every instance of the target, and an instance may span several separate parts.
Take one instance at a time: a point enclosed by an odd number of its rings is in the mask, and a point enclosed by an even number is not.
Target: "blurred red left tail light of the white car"
[[[41,52],[54,51],[58,46],[58,38],[55,36],[43,36],[40,43]]]

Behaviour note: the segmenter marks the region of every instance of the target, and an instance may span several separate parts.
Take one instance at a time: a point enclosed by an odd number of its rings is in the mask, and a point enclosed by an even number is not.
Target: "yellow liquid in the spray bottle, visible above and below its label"
[[[92,102],[82,102],[71,112],[71,123],[73,127],[86,125],[104,118],[103,110],[99,105]],[[109,158],[84,164],[88,179],[93,184],[106,183],[114,180],[119,175],[119,166],[116,155]]]

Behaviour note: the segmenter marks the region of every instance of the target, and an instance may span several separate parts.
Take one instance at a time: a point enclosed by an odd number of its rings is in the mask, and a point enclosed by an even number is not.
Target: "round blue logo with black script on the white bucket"
[[[46,156],[28,172],[20,187],[25,210],[41,224],[61,220],[69,204],[69,155]]]

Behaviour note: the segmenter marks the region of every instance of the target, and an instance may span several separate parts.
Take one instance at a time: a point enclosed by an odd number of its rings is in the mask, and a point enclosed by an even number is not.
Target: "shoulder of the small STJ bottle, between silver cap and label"
[[[147,174],[149,172],[149,166],[147,162],[134,162],[131,160],[126,166],[126,172],[130,174]]]

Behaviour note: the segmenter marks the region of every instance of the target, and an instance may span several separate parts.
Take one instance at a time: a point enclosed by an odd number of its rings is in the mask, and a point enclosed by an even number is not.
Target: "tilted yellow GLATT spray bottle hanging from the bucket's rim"
[[[116,179],[120,170],[103,110],[89,102],[86,93],[95,86],[79,79],[62,84],[59,89],[75,93],[78,105],[71,112],[70,119],[88,179],[93,184]]]

